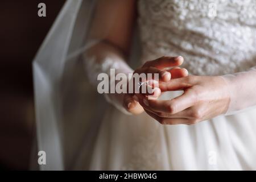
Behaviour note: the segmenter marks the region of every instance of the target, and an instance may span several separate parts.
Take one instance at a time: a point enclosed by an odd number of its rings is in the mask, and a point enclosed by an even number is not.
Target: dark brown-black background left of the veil
[[[46,3],[46,17],[38,4]],[[0,1],[0,168],[29,169],[35,147],[32,60],[65,0]]]

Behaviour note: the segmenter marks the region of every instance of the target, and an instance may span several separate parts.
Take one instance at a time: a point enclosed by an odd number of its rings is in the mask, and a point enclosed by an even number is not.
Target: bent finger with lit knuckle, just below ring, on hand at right
[[[175,97],[172,100],[147,100],[144,99],[145,105],[149,106],[152,110],[161,113],[176,114],[180,111],[192,107],[197,104],[197,96],[191,92],[184,92],[181,96]]]

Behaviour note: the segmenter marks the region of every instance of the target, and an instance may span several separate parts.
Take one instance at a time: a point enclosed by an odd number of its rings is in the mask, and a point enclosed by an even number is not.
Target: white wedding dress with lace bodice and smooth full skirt
[[[256,65],[256,1],[139,0],[138,11],[142,62],[181,55],[193,75]],[[256,110],[163,126],[110,106],[92,154],[90,169],[256,169]]]

